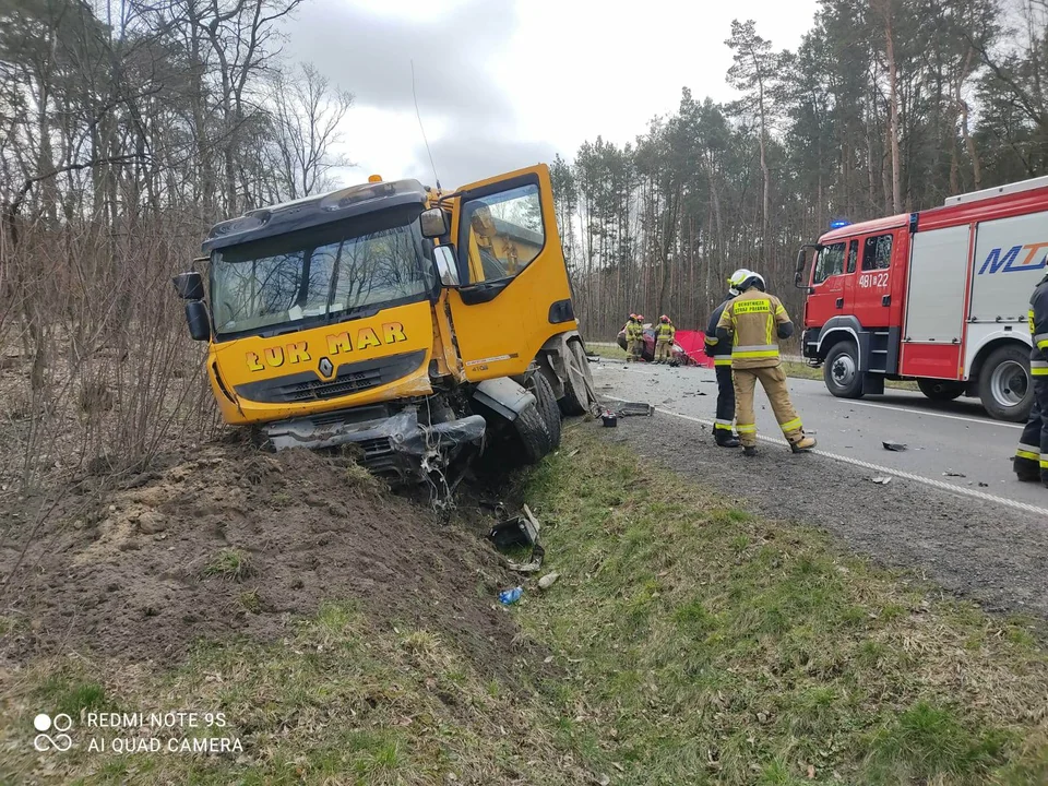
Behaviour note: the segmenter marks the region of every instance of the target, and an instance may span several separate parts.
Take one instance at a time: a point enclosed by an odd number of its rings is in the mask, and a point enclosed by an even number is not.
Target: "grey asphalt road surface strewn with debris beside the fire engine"
[[[596,392],[653,404],[665,413],[712,421],[717,386],[712,369],[592,365]],[[1048,515],[1048,489],[1020,484],[1011,468],[1022,427],[993,420],[974,400],[931,402],[920,393],[890,391],[861,401],[835,398],[814,380],[790,380],[790,394],[819,452],[858,465],[870,477],[895,475],[967,498]],[[767,398],[758,385],[757,425],[761,436],[782,440]],[[883,442],[907,445],[888,451]],[[785,444],[785,443],[784,443]],[[783,450],[765,443],[763,451]],[[1033,510],[1032,510],[1033,509]]]

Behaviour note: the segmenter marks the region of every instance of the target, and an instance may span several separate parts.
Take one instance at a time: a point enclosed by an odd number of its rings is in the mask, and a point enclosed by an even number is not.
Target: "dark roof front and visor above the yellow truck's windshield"
[[[330,224],[331,222],[372,213],[389,207],[418,204],[422,207],[429,196],[418,180],[391,180],[362,183],[305,196],[289,202],[248,211],[238,218],[219,222],[211,228],[201,245],[203,253],[236,246],[260,238],[284,235],[296,229]]]

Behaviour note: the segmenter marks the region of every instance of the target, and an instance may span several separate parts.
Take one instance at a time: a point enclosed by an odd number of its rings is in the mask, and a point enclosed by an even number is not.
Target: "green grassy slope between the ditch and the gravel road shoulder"
[[[757,519],[572,429],[531,477],[563,574],[522,624],[561,734],[627,784],[1048,783],[1029,623]],[[621,770],[619,770],[621,767]]]

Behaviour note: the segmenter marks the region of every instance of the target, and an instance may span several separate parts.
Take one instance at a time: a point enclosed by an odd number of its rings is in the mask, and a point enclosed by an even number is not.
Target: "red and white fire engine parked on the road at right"
[[[1033,405],[1026,311],[1046,254],[1048,177],[835,222],[797,257],[803,355],[842,398],[912,379],[929,398],[978,396],[992,417],[1023,421]]]

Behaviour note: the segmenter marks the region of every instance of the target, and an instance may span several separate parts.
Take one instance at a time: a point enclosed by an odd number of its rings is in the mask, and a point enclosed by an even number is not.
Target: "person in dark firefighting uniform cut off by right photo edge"
[[[1029,373],[1034,378],[1034,407],[1023,430],[1013,466],[1020,480],[1040,480],[1048,488],[1048,275],[1029,298]]]

